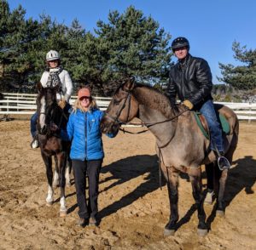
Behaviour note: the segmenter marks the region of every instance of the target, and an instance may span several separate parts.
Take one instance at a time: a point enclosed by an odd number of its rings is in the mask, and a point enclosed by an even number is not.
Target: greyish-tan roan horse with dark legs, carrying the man
[[[160,168],[167,182],[171,214],[165,234],[173,235],[177,229],[178,173],[183,172],[188,173],[192,185],[199,219],[198,234],[204,236],[208,229],[203,207],[201,164],[212,165],[213,168],[212,162],[216,162],[216,156],[208,151],[210,142],[197,125],[193,112],[186,110],[183,105],[177,105],[176,108],[177,111],[169,99],[156,89],[129,80],[113,95],[106,115],[102,118],[102,133],[113,132],[119,128],[121,122],[130,122],[134,117],[143,121],[155,136]],[[224,137],[224,148],[225,156],[232,162],[239,123],[236,114],[228,107],[219,105],[218,111],[230,123],[230,134]],[[214,169],[220,172],[218,167]],[[227,172],[224,169],[218,175],[217,214],[220,215],[224,215]]]

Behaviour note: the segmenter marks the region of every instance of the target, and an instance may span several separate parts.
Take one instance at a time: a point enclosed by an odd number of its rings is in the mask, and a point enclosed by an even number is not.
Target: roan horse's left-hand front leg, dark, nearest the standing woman
[[[171,168],[163,168],[163,173],[166,177],[169,202],[170,202],[170,219],[165,227],[165,236],[173,236],[175,230],[177,229],[177,220],[178,220],[178,208],[177,208],[177,185],[178,185],[178,171],[177,169]]]

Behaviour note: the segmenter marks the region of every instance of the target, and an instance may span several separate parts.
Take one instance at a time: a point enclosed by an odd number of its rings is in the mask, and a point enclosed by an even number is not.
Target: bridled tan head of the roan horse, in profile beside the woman
[[[121,123],[130,122],[137,116],[138,104],[132,95],[134,88],[136,88],[134,79],[130,79],[117,89],[102,118],[102,133],[115,134]]]

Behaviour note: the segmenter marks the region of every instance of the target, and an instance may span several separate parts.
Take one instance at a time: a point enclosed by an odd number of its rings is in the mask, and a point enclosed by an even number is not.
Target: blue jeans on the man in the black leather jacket
[[[203,116],[206,117],[208,127],[210,129],[211,134],[211,150],[215,151],[216,145],[218,151],[224,151],[223,139],[222,139],[222,129],[220,127],[220,123],[218,122],[218,118],[216,112],[214,110],[212,99],[207,100],[200,109],[200,112]]]

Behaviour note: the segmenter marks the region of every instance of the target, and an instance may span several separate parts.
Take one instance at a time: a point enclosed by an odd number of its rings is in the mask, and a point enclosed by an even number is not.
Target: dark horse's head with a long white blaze
[[[59,87],[42,88],[38,84],[38,131],[40,134],[55,132],[60,123],[61,108],[57,105],[56,94]]]

